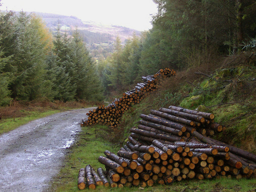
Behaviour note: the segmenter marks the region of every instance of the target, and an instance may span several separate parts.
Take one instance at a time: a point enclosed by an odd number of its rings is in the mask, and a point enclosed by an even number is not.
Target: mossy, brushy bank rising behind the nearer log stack
[[[256,154],[256,55],[242,52],[205,63],[177,72],[158,93],[134,106],[120,123],[124,138],[141,113],[175,105],[214,113],[215,121],[227,127],[215,138]]]

